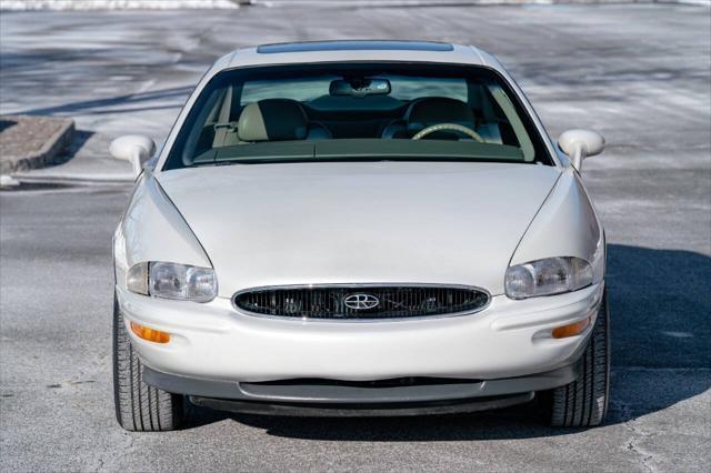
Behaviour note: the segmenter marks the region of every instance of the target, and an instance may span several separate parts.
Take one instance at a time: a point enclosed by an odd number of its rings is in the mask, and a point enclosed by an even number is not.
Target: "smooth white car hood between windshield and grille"
[[[471,162],[234,164],[157,174],[204,248],[221,296],[322,283],[503,292],[557,168]]]

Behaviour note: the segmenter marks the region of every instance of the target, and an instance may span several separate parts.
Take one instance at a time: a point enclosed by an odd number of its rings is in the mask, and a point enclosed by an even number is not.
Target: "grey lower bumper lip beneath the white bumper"
[[[501,380],[401,379],[384,382],[284,380],[249,383],[201,380],[143,368],[143,382],[189,395],[198,405],[278,415],[420,415],[507,407],[534,391],[568,384],[580,361],[557,370]]]

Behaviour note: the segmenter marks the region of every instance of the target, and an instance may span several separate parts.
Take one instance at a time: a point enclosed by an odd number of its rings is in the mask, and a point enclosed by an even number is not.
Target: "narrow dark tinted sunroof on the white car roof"
[[[257,52],[273,54],[278,52],[308,51],[452,51],[452,44],[432,41],[309,41],[264,44],[257,48]]]

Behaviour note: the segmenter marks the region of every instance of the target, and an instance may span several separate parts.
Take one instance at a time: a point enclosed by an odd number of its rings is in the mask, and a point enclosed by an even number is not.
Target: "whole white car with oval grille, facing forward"
[[[162,150],[111,152],[137,184],[113,235],[119,423],[183,401],[279,415],[535,404],[602,422],[605,242],[580,178],[470,47],[327,41],[216,62]]]

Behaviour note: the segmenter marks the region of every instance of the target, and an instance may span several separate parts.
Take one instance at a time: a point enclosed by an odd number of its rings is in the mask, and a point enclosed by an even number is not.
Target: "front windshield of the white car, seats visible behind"
[[[299,64],[217,74],[164,169],[319,160],[552,164],[493,71],[437,64]]]

